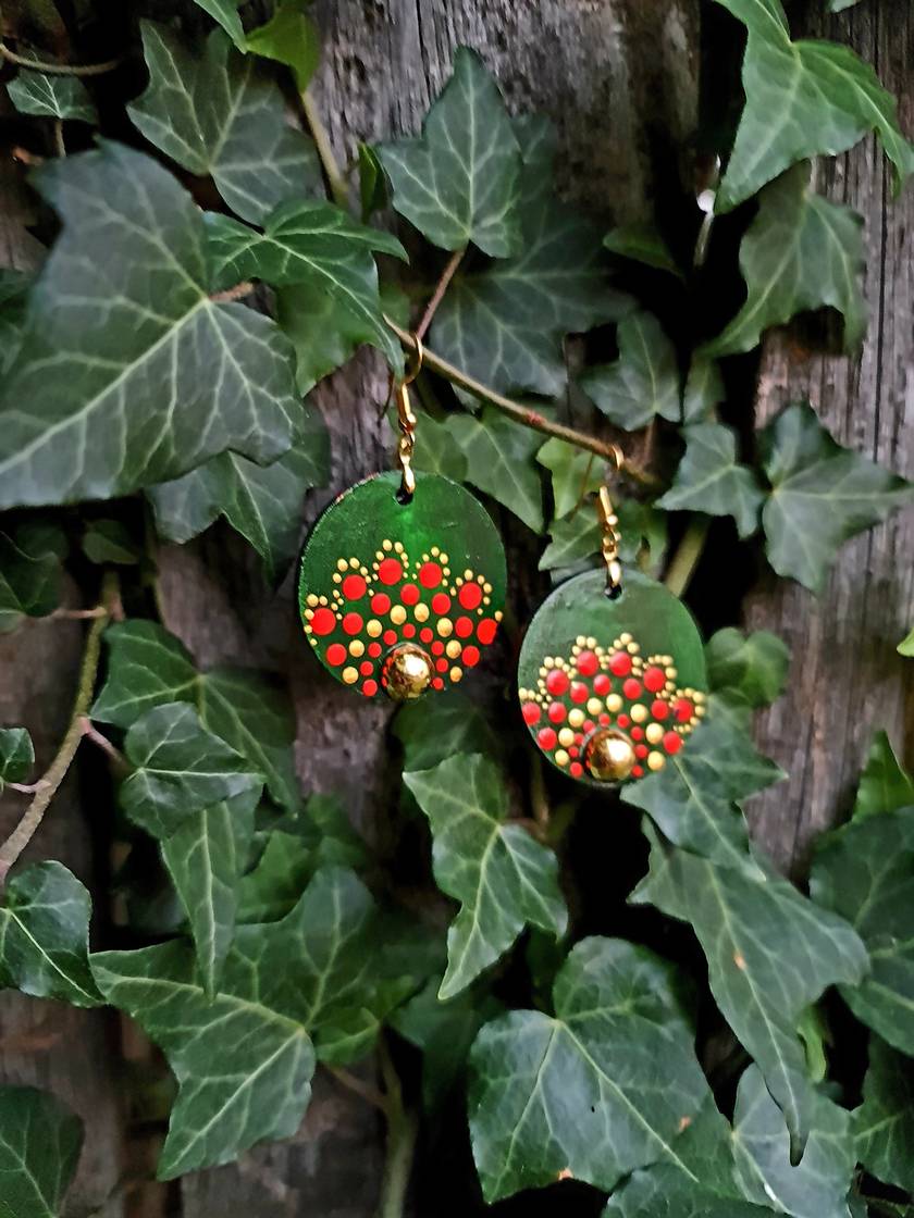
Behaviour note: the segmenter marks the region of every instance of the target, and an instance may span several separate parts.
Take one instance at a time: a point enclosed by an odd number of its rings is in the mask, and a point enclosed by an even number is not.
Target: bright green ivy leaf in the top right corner
[[[797,161],[837,156],[877,132],[897,183],[914,168],[895,97],[838,43],[791,41],[780,0],[718,0],[748,29],[746,108],[715,209],[726,212]]]

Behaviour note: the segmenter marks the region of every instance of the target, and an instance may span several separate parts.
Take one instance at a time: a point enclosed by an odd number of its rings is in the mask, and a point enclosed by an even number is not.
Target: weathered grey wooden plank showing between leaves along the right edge
[[[797,30],[801,32],[801,30]],[[892,0],[842,15],[810,11],[802,33],[832,37],[875,65],[914,133],[914,15]],[[891,167],[874,139],[823,162],[819,189],[866,222],[866,342],[858,358],[814,354],[787,335],[765,346],[758,423],[808,397],[836,438],[914,477],[914,189],[892,200]],[[817,600],[768,579],[747,610],[752,628],[782,635],[793,650],[785,695],[760,716],[758,742],[790,772],[752,805],[756,837],[785,870],[802,871],[808,847],[841,820],[876,728],[914,762],[914,663],[897,643],[914,624],[914,512],[895,515],[841,551]]]

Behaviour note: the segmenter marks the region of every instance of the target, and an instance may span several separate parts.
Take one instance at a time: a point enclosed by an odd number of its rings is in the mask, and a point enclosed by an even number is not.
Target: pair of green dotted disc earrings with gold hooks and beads
[[[459,683],[496,638],[507,571],[501,538],[473,495],[412,468],[416,415],[397,385],[399,470],[335,499],[301,560],[305,636],[338,681],[406,702]],[[622,453],[617,449],[617,469]],[[540,752],[591,786],[636,782],[679,753],[704,714],[698,630],[663,585],[629,572],[606,487],[604,571],[561,585],[526,631],[520,713]]]

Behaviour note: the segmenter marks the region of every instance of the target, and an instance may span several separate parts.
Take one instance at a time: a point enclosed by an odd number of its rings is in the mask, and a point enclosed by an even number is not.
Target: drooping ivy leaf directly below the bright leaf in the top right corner
[[[746,303],[702,352],[751,351],[770,326],[826,304],[843,317],[845,350],[853,351],[866,334],[863,267],[862,217],[817,195],[809,166],[797,166],[762,191],[740,246]]]

